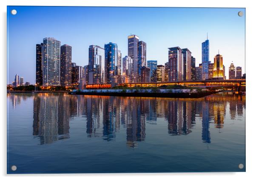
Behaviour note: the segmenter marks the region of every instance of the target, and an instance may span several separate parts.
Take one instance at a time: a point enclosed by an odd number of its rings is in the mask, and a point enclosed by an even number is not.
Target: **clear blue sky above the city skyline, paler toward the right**
[[[71,45],[72,62],[80,66],[88,65],[89,45],[114,42],[126,56],[130,34],[147,43],[147,60],[164,65],[168,48],[179,46],[192,52],[198,66],[208,32],[210,61],[219,50],[227,78],[232,61],[245,73],[245,8],[9,6],[7,19],[9,84],[16,73],[35,83],[36,44],[45,37]]]

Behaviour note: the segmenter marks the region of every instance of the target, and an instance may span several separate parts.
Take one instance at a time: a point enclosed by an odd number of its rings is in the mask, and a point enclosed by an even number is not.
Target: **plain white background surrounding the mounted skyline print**
[[[0,43],[0,90],[1,90],[1,163],[0,175],[4,178],[11,179],[18,177],[20,179],[45,179],[47,178],[62,178],[70,179],[76,177],[84,179],[86,177],[97,179],[131,179],[131,178],[146,178],[156,179],[160,176],[161,179],[179,178],[189,180],[216,180],[220,177],[236,179],[254,179],[255,174],[255,108],[256,95],[253,94],[256,90],[256,57],[255,57],[255,42],[256,42],[256,9],[253,1],[245,0],[1,0],[1,43]],[[6,6],[147,6],[147,7],[234,7],[246,8],[246,74],[247,74],[247,109],[246,109],[246,171],[241,173],[134,173],[134,174],[24,174],[24,175],[6,175]],[[254,76],[253,76],[254,75]],[[253,84],[254,83],[254,84]],[[250,98],[248,98],[250,97]]]

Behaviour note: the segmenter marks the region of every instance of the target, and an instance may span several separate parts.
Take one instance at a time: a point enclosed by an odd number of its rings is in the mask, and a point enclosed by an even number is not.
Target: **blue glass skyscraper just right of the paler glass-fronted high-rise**
[[[117,44],[109,42],[105,44],[105,83],[117,82]]]

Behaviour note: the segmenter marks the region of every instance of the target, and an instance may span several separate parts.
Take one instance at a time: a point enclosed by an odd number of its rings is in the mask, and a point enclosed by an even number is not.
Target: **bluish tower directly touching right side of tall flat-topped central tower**
[[[147,64],[146,47],[145,42],[138,42],[138,81],[141,79],[141,68]]]

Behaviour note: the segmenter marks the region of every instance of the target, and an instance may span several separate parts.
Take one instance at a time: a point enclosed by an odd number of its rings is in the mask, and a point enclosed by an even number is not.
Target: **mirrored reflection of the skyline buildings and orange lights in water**
[[[15,109],[22,100],[26,101],[27,95],[11,94],[9,98]],[[88,138],[114,141],[120,128],[125,128],[126,144],[134,147],[139,141],[145,141],[146,124],[157,126],[157,121],[164,119],[166,133],[188,135],[193,132],[196,120],[201,120],[201,141],[211,143],[210,123],[214,123],[215,128],[223,128],[227,114],[236,120],[243,115],[243,109],[245,96],[221,93],[199,99],[42,93],[34,95],[33,135],[40,139],[40,144],[69,138],[69,121],[80,117],[86,121]]]

